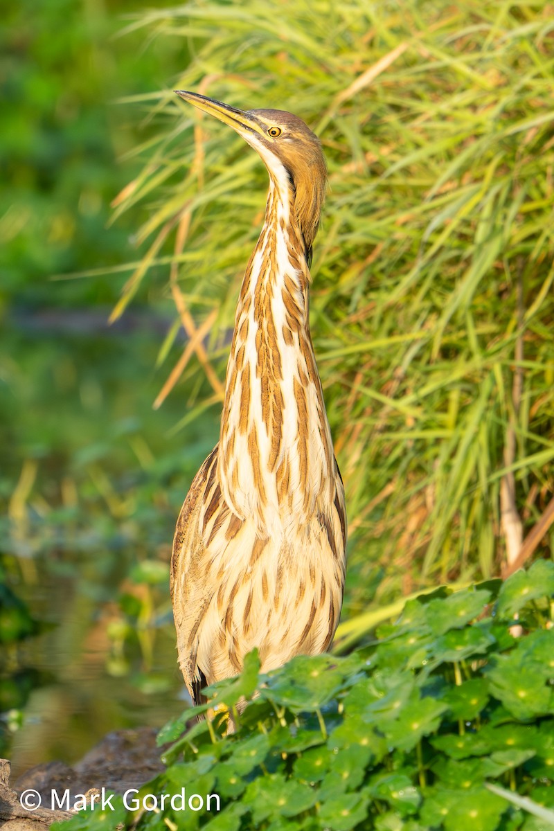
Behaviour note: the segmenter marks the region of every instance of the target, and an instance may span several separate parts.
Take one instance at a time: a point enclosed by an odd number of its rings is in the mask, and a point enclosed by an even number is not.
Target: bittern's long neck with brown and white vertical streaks
[[[238,299],[219,442],[223,495],[260,529],[282,529],[331,489],[333,455],[309,327],[302,230],[286,175],[271,179],[265,222]],[[332,494],[331,494],[332,499]]]

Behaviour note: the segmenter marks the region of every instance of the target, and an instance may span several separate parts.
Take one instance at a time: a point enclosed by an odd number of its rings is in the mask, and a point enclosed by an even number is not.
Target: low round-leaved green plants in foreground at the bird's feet
[[[538,562],[498,597],[498,584],[419,597],[343,658],[298,656],[258,676],[252,653],[243,676],[208,690],[237,732],[224,735],[216,715],[177,738],[205,707],[185,711],[159,734],[160,745],[177,739],[167,769],[141,789],[218,794],[219,813],[168,807],[118,819],[159,831],[552,827],[553,578],[554,564]],[[512,637],[503,609],[522,580],[530,599],[520,620],[531,623]],[[92,814],[63,826],[100,827]]]

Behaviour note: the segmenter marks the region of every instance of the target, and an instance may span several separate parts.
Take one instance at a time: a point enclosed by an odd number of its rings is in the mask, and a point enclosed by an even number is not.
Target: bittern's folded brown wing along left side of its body
[[[205,678],[197,665],[203,618],[218,588],[211,575],[219,548],[242,525],[223,499],[218,480],[218,445],[203,463],[184,500],[175,529],[169,588],[174,607],[179,665],[190,695],[199,701]]]

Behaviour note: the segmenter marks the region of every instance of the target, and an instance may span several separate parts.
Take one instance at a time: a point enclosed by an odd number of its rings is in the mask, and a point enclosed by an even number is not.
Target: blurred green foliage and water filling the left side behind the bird
[[[110,225],[110,201],[150,135],[117,100],[164,86],[188,55],[116,37],[136,8],[8,2],[2,15],[0,751],[13,737],[16,774],[181,706],[167,563],[217,418],[177,441],[185,398],[152,409],[171,324],[162,269],[107,325],[146,215]],[[104,272],[66,279],[91,268]]]

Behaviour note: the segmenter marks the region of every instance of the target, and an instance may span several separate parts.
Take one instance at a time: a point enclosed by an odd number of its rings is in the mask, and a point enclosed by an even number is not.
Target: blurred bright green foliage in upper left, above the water
[[[120,15],[134,5],[112,0],[108,13],[96,2],[3,3],[0,314],[117,297],[122,280],[51,277],[118,267],[140,221],[129,214],[106,227],[110,202],[133,170],[118,157],[148,135],[115,98],[155,86],[171,61],[186,58],[186,47],[139,54],[141,37],[115,40]]]

